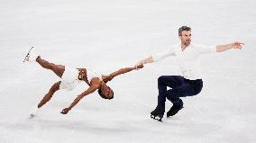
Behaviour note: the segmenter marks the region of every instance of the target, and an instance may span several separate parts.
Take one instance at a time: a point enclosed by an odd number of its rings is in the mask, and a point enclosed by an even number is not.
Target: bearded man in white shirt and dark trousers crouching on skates
[[[178,65],[183,76],[160,76],[158,78],[158,105],[151,112],[151,118],[161,121],[165,112],[166,98],[173,103],[167,112],[167,117],[175,115],[183,108],[183,102],[179,97],[193,96],[199,94],[203,87],[200,70],[199,56],[207,53],[222,52],[227,49],[242,49],[244,43],[233,42],[225,45],[206,47],[191,43],[191,28],[182,26],[178,29],[178,38],[181,43],[172,49],[157,53],[149,58],[144,58],[137,65],[143,65],[159,61],[162,58],[174,56],[178,59]],[[167,90],[167,86],[170,87]]]

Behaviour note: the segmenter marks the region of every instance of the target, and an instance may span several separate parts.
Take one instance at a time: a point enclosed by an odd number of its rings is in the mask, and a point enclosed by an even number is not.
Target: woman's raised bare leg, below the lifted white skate
[[[36,62],[38,62],[41,65],[41,67],[52,70],[59,77],[61,77],[65,71],[65,66],[55,65],[53,63],[48,62],[45,59],[42,59],[41,57],[36,58]]]

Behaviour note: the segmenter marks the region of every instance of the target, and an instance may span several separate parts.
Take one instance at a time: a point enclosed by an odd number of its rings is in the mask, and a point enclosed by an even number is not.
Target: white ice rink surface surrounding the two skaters
[[[253,0],[0,0],[0,143],[254,143],[256,139],[256,2]],[[57,92],[38,116],[32,109],[59,81],[37,63],[23,63],[32,46],[42,58],[109,74],[179,43],[236,40],[244,49],[201,57],[204,88],[182,98],[185,108],[163,122],[157,79],[180,75],[175,58],[114,78],[114,100],[86,96],[67,115],[59,112],[87,89]],[[166,110],[171,103],[168,101]]]

